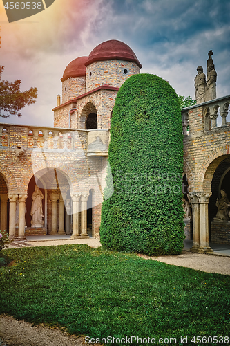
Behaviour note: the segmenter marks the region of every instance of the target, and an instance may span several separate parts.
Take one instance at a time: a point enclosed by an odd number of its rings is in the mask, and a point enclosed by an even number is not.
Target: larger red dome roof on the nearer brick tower
[[[142,64],[140,64],[132,49],[124,42],[117,41],[117,39],[102,42],[102,44],[99,44],[96,48],[94,48],[88,56],[88,60],[86,61],[85,65],[88,66],[89,64],[92,64],[92,62],[111,59],[135,62],[140,69],[142,68]]]

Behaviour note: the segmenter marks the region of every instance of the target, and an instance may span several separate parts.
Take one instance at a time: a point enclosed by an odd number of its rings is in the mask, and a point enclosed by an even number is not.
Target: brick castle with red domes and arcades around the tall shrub
[[[103,42],[66,67],[54,127],[0,124],[0,229],[11,239],[99,236],[115,98],[141,68],[129,46]],[[220,191],[230,197],[229,103],[226,96],[182,109],[184,222],[197,252],[211,251],[210,240],[230,242],[229,217],[213,221]]]

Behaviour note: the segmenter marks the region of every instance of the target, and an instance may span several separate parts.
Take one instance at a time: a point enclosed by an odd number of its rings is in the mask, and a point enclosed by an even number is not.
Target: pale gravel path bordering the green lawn
[[[47,242],[17,242],[10,248],[24,246],[56,246],[62,244],[88,244],[93,248],[100,246],[99,239],[57,240]],[[138,255],[146,260],[155,260],[175,266],[185,266],[208,273],[230,275],[230,257],[205,255],[183,251],[181,255],[149,257]],[[0,346],[82,346],[84,338],[70,336],[59,328],[51,329],[45,325],[32,327],[30,323],[14,320],[10,316],[0,316]],[[97,346],[95,344],[95,346]]]

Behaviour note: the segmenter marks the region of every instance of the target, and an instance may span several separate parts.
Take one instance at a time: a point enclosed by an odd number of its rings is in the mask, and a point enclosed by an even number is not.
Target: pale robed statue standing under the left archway
[[[31,227],[43,227],[43,212],[42,212],[42,199],[44,195],[39,189],[39,186],[35,185],[35,191],[32,194],[32,206],[30,215],[32,216]]]

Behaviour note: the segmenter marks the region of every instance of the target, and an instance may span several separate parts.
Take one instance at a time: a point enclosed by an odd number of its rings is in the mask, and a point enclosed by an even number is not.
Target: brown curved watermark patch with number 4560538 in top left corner
[[[37,13],[46,10],[55,0],[33,0],[33,1],[6,1],[3,0],[3,6],[6,10],[9,23],[19,21],[37,15]]]

